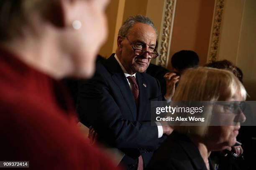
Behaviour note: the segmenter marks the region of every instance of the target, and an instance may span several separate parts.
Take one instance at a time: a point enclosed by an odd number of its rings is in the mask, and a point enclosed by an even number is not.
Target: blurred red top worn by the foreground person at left
[[[80,134],[60,82],[0,49],[0,161],[32,169],[112,170]]]

